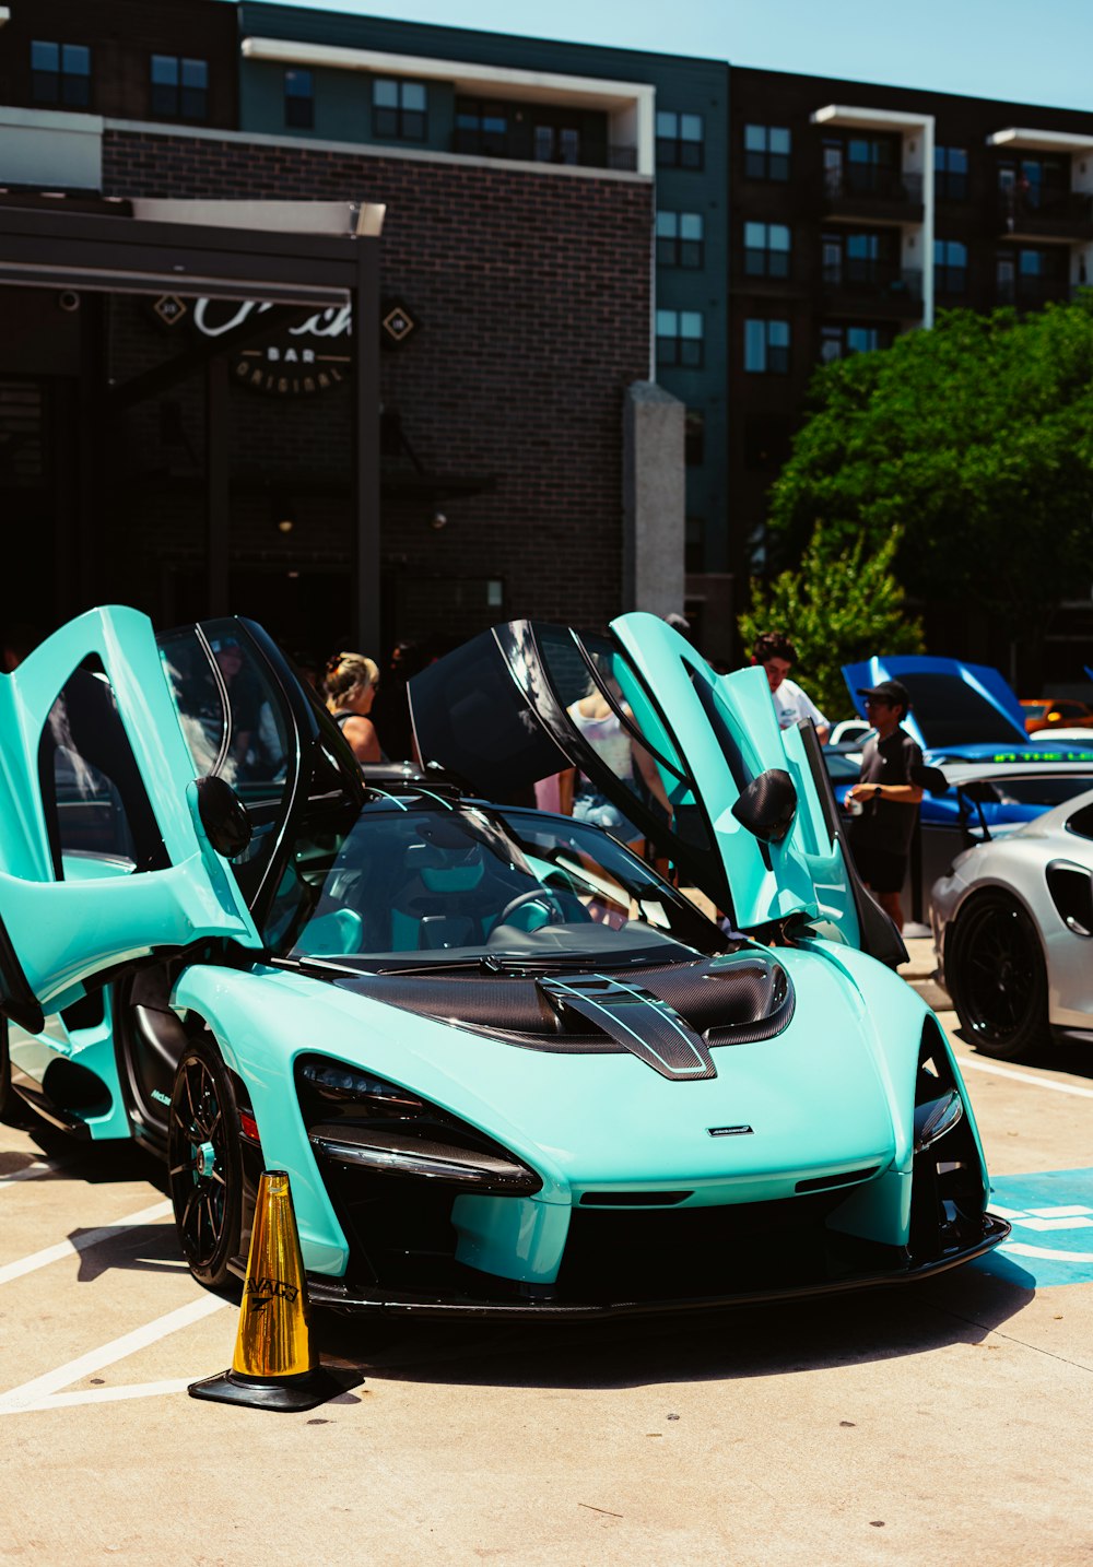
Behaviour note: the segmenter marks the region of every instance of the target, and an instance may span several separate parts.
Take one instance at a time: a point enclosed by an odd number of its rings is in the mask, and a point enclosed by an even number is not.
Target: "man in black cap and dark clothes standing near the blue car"
[[[902,931],[900,890],[922,799],[921,787],[911,782],[911,768],[922,765],[922,752],[900,729],[911,710],[905,685],[881,680],[859,686],[858,696],[864,696],[866,716],[877,733],[866,741],[858,782],[847,791],[850,810],[861,812],[850,823],[850,848],[861,879]]]

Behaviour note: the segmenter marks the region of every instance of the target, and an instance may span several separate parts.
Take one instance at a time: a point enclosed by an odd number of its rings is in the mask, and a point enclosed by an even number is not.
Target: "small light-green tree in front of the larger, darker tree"
[[[841,548],[841,533],[817,528],[798,570],[753,581],[751,608],[739,619],[748,649],[762,632],[781,630],[792,638],[798,658],[793,675],[800,674],[831,722],[853,713],[842,664],[924,649],[922,625],[906,614],[903,589],[892,575],[900,530],[892,528],[877,547],[859,534]]]

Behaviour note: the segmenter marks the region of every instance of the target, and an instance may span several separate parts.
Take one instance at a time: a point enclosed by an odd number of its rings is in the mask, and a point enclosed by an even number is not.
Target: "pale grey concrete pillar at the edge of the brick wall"
[[[652,381],[623,406],[623,608],[684,613],[684,414]]]

